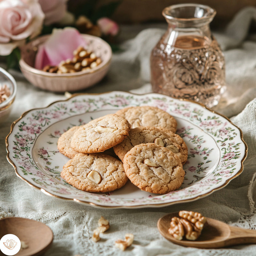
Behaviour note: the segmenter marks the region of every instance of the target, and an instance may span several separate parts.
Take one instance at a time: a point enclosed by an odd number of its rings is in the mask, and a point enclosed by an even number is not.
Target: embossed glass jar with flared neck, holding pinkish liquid
[[[162,14],[168,29],[150,56],[153,92],[217,105],[225,87],[225,59],[209,26],[216,11],[176,4]]]

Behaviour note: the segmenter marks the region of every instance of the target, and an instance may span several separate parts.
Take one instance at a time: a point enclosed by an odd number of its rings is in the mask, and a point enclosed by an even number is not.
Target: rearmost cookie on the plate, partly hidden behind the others
[[[127,119],[132,128],[138,126],[160,126],[172,132],[176,132],[177,129],[176,119],[166,111],[156,107],[127,107],[118,110],[116,114]]]

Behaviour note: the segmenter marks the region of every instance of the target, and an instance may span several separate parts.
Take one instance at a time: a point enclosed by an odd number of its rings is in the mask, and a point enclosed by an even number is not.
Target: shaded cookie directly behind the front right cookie
[[[114,151],[121,161],[123,161],[124,155],[129,150],[131,150],[135,145],[142,143],[156,143],[164,146],[179,156],[182,164],[187,162],[188,150],[183,151],[176,141],[170,138],[168,134],[156,127],[151,126],[139,126],[131,129],[129,136],[126,137],[121,143],[116,145],[114,147]]]

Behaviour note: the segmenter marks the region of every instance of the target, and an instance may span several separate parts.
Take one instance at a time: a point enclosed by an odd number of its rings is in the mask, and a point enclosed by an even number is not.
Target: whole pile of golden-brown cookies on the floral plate
[[[60,176],[88,192],[113,191],[128,179],[155,194],[176,190],[188,158],[176,127],[173,116],[150,106],[124,108],[74,126],[58,140],[60,153],[70,158]]]

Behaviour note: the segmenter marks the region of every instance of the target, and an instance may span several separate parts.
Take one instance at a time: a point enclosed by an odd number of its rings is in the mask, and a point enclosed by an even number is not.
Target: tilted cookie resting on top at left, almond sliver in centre
[[[71,147],[80,153],[98,153],[115,146],[129,135],[131,124],[121,116],[108,114],[80,127]]]

